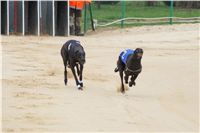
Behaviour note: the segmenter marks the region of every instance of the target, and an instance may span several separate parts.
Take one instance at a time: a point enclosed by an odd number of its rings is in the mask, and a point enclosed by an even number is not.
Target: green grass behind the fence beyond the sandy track
[[[139,17],[139,18],[157,18],[157,17],[169,17],[169,7],[164,5],[163,2],[159,2],[157,6],[149,7],[145,5],[145,2],[138,1],[126,1],[125,17]],[[97,5],[92,3],[93,19],[97,19],[98,23],[107,23],[118,20],[122,16],[121,3],[115,5],[101,5],[101,9],[97,8]],[[89,16],[89,13],[88,13]],[[174,17],[200,17],[199,9],[182,9],[174,7]],[[83,17],[84,18],[84,12]],[[90,26],[90,20],[88,17],[87,27]],[[163,24],[155,23],[155,24]],[[166,23],[167,24],[167,23]],[[112,26],[119,26],[120,24],[114,24]],[[146,24],[132,24],[132,26],[146,25]],[[151,24],[150,24],[151,25]],[[131,26],[131,25],[128,25]]]

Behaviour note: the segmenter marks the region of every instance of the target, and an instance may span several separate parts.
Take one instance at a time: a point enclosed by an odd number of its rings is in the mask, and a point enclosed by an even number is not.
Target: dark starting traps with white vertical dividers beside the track
[[[68,1],[1,1],[1,34],[69,35]]]

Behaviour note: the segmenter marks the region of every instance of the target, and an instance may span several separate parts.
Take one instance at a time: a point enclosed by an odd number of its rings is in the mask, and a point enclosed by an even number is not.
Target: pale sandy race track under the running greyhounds
[[[1,36],[2,128],[14,132],[199,130],[199,24],[102,30],[85,37]],[[84,91],[64,86],[60,48],[86,51]],[[144,49],[136,86],[117,90],[119,53]],[[69,71],[69,70],[68,70]]]

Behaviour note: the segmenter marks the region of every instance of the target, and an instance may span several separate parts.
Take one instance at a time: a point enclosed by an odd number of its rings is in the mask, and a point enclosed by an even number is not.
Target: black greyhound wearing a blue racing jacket
[[[121,52],[119,59],[117,61],[117,67],[115,72],[119,71],[121,78],[121,92],[125,93],[124,83],[123,83],[123,73],[125,74],[124,80],[128,84],[129,76],[131,81],[129,82],[129,87],[136,85],[135,80],[139,73],[142,71],[141,59],[143,56],[143,49],[136,48],[135,50],[127,49]]]

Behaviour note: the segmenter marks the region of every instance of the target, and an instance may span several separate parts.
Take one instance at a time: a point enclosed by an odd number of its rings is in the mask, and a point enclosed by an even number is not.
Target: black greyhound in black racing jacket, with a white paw
[[[83,47],[81,46],[80,42],[77,40],[67,41],[61,48],[61,56],[62,56],[63,63],[65,66],[65,69],[64,69],[65,85],[67,85],[67,68],[66,67],[68,65],[72,70],[78,89],[82,90],[82,87],[83,87],[82,73],[83,73],[83,65],[85,63],[85,51]],[[77,69],[79,80],[75,73],[75,67]]]

